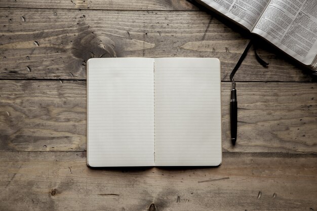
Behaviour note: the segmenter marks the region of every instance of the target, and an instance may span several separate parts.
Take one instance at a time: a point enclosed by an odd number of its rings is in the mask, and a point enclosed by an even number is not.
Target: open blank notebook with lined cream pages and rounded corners
[[[218,59],[90,59],[87,89],[87,165],[221,164]]]

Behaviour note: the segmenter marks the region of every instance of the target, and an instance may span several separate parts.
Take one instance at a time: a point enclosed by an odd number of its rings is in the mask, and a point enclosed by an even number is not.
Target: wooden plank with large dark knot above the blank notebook
[[[0,79],[85,79],[96,57],[214,57],[229,74],[248,39],[205,12],[0,9]],[[272,49],[271,49],[272,50]],[[236,81],[312,81],[274,51],[250,51]]]

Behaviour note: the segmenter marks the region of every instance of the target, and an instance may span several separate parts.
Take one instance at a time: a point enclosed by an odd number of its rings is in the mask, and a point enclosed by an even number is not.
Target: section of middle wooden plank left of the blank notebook
[[[85,150],[85,81],[0,85],[0,150]]]

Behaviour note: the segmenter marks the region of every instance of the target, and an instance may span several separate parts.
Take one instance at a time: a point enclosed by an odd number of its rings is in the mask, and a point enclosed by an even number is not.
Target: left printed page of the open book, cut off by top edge
[[[270,0],[198,0],[251,31]]]

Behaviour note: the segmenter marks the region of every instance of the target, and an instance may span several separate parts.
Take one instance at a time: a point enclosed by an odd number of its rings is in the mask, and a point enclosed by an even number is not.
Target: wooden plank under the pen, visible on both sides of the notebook
[[[237,83],[238,140],[230,142],[222,83],[223,151],[317,152],[317,85]],[[3,80],[0,151],[86,150],[86,81]]]

